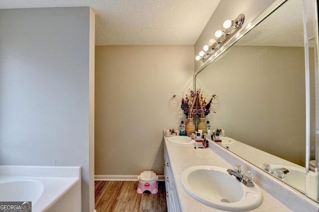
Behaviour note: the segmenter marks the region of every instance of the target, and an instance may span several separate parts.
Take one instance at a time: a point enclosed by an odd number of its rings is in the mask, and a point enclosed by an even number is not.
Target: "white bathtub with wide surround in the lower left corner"
[[[0,165],[0,202],[31,202],[32,212],[81,212],[81,167]]]

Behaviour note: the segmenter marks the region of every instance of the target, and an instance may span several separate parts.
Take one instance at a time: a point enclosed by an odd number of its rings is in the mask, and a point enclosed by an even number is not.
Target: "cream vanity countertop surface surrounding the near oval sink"
[[[214,152],[214,147],[216,147],[214,145],[218,144],[212,143],[210,141],[209,148],[194,149],[194,145],[178,145],[170,143],[169,141],[167,141],[167,137],[164,137],[164,145],[170,161],[173,178],[176,183],[176,193],[181,210],[183,212],[225,212],[224,210],[212,208],[198,202],[197,200],[189,196],[180,185],[181,173],[186,168],[192,166],[210,165],[224,168],[233,168],[235,164],[228,163],[225,159]],[[250,210],[250,212],[290,212],[288,208],[282,205],[263,188],[261,188],[260,186],[259,188],[263,194],[263,203],[258,208]]]

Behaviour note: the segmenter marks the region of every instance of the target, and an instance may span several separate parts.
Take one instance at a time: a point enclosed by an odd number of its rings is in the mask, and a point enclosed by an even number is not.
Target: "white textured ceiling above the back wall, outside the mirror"
[[[194,45],[220,0],[0,0],[0,8],[91,6],[95,45]]]

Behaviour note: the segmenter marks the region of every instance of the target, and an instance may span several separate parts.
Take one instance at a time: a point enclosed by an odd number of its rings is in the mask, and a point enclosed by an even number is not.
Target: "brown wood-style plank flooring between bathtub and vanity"
[[[165,182],[159,192],[136,192],[138,181],[95,181],[97,212],[167,212]]]

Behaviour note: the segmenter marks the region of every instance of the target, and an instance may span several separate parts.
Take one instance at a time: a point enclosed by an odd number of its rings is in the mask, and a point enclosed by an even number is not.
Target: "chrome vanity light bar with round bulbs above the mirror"
[[[245,15],[240,14],[235,20],[225,20],[223,23],[222,30],[217,30],[215,32],[216,39],[210,39],[208,45],[203,47],[204,51],[200,51],[199,54],[195,57],[196,61],[201,60],[205,63],[214,52],[217,52],[218,49],[222,48],[224,43],[229,40],[243,25],[245,20]]]

